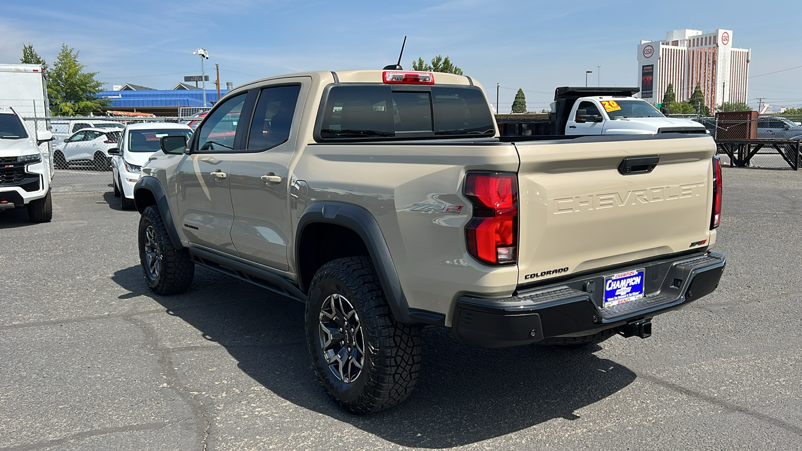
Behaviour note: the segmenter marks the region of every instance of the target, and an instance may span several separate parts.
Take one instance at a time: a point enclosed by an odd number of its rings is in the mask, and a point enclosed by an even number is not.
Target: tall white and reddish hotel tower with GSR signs
[[[688,100],[701,83],[712,111],[723,102],[747,102],[750,49],[732,47],[732,30],[671,30],[663,41],[638,45],[641,98],[662,103],[668,83],[678,101]]]

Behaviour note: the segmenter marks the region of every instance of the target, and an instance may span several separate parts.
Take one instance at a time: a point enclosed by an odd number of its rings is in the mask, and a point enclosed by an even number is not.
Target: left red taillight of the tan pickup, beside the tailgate
[[[468,252],[482,262],[516,262],[518,242],[518,181],[509,173],[469,173],[465,196],[473,204],[473,219],[465,232]]]

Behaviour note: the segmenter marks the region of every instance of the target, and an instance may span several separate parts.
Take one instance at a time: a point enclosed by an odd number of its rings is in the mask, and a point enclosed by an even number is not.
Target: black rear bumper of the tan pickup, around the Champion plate
[[[452,331],[457,339],[484,347],[516,346],[558,336],[592,335],[683,307],[719,286],[723,254],[682,258],[604,270],[538,286],[502,299],[462,296]],[[604,277],[619,270],[646,269],[642,299],[602,308]]]

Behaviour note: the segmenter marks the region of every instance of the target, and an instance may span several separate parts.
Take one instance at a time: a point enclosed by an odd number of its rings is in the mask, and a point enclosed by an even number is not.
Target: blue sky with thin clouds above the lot
[[[194,0],[192,2],[7,2],[0,17],[0,62],[18,62],[32,43],[48,63],[62,43],[80,51],[88,70],[112,84],[168,89],[201,71],[192,55],[209,51],[206,73],[221,83],[308,70],[380,69],[402,60],[449,55],[484,84],[500,111],[520,87],[530,110],[553,99],[557,86],[636,86],[637,45],[667,30],[733,30],[734,47],[751,48],[750,75],[802,65],[798,32],[802,2],[314,2]],[[765,97],[779,107],[802,106],[802,67],[750,79],[750,104]],[[209,84],[207,83],[207,87]]]

